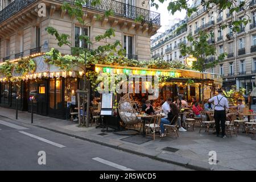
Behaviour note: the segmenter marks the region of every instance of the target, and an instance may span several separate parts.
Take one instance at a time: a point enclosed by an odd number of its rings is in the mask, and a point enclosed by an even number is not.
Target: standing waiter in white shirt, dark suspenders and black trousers
[[[218,95],[209,99],[208,102],[214,102],[214,119],[216,127],[216,135],[220,134],[220,122],[221,122],[221,137],[226,138],[225,135],[225,122],[226,122],[226,109],[229,109],[228,100],[222,96],[223,91],[218,90]]]

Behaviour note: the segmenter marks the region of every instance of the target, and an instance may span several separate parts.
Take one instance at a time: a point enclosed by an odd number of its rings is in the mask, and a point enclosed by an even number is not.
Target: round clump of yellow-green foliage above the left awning
[[[34,73],[36,69],[36,64],[31,57],[21,58],[15,65],[15,71],[20,73],[22,76],[28,73]]]

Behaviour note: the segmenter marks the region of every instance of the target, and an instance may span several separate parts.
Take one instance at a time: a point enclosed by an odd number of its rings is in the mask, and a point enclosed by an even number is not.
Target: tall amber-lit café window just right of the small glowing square
[[[50,109],[63,109],[61,102],[62,80],[53,78],[49,83],[49,107]]]

